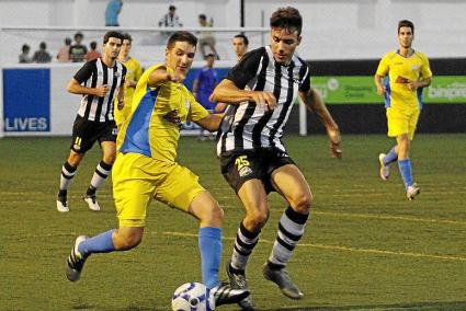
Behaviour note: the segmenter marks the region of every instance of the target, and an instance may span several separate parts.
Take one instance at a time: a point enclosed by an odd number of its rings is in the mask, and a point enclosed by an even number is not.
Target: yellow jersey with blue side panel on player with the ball
[[[196,122],[208,112],[182,83],[147,85],[149,74],[163,66],[157,64],[140,77],[133,97],[133,110],[118,131],[120,152],[140,153],[159,161],[174,162],[181,125]]]

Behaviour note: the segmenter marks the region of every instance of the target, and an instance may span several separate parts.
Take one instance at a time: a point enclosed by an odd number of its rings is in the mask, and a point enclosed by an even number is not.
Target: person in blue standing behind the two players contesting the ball
[[[218,74],[214,69],[215,55],[208,54],[206,56],[206,66],[201,68],[197,71],[196,77],[193,82],[193,95],[196,97],[196,101],[209,113],[213,113],[216,106],[216,103],[209,101],[209,96],[212,92],[214,92],[215,87],[218,83]],[[214,139],[214,136],[211,133],[205,131],[204,128],[201,127],[200,140],[205,140],[206,138]]]

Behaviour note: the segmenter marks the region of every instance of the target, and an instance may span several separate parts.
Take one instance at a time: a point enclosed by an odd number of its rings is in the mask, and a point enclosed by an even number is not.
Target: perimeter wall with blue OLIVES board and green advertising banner
[[[425,102],[418,131],[466,133],[466,66],[463,59],[432,59],[432,85],[424,90]],[[216,67],[225,77],[229,66]],[[185,84],[204,64],[197,61]],[[69,136],[79,95],[66,85],[80,64],[16,65],[2,69],[3,130],[5,136]],[[376,60],[311,61],[311,84],[323,96],[329,111],[344,134],[386,133],[382,97],[376,95],[373,71]],[[194,124],[185,125],[183,135],[197,134]],[[303,105],[294,108],[287,133],[325,133],[316,116]]]

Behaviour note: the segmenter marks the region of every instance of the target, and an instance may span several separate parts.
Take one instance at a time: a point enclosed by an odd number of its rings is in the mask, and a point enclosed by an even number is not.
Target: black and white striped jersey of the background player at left
[[[106,67],[101,58],[86,62],[73,78],[87,88],[106,84],[110,91],[104,97],[83,95],[78,115],[88,120],[113,120],[115,95],[118,88],[125,83],[125,76],[126,67],[117,60],[113,67]]]

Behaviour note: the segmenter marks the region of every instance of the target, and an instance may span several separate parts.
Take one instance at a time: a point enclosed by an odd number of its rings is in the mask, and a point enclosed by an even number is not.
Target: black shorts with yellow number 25
[[[274,192],[272,173],[286,164],[295,162],[288,153],[279,149],[232,151],[220,156],[221,174],[236,193],[252,178],[261,180],[266,193]]]

